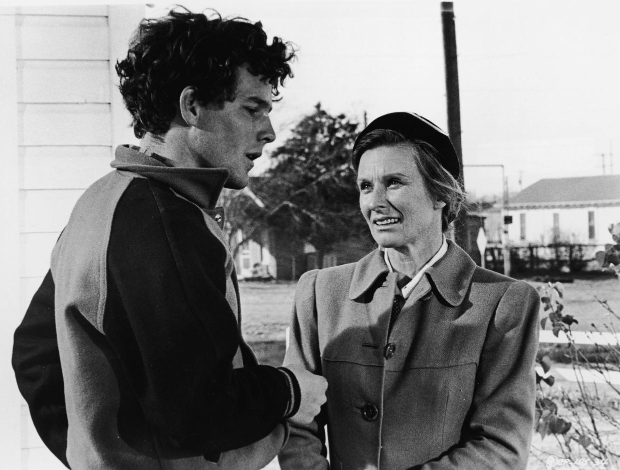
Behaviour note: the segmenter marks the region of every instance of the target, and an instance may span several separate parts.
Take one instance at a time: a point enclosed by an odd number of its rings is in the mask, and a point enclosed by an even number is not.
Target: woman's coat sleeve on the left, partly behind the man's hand
[[[295,290],[290,317],[290,337],[284,358],[285,366],[302,367],[321,375],[321,353],[317,332],[315,285],[318,271],[304,273]],[[319,470],[329,468],[325,447],[325,407],[307,426],[290,425],[286,446],[278,454],[282,470]]]

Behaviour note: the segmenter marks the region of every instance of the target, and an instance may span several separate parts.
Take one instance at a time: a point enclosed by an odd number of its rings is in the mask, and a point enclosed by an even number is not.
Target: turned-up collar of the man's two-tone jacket
[[[117,147],[111,166],[162,182],[204,210],[215,208],[228,179],[224,168],[175,167],[166,157],[147,155],[129,145]]]

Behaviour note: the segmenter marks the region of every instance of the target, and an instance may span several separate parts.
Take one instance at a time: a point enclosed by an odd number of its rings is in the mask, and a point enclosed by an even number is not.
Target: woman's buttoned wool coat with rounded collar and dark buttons
[[[396,276],[376,250],[299,280],[285,364],[324,375],[329,388],[318,420],[291,429],[281,468],[327,468],[327,422],[332,469],[525,469],[536,290],[449,242],[388,333]]]

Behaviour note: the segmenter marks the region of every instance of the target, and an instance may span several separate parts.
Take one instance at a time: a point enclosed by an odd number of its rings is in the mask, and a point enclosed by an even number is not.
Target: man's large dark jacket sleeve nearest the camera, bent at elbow
[[[210,453],[267,436],[290,390],[277,368],[232,368],[226,251],[203,217],[166,187],[131,183],[108,242],[103,329],[163,445]]]

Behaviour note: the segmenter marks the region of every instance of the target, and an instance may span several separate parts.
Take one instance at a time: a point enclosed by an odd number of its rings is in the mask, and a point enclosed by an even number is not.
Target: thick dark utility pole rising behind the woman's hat
[[[443,25],[443,54],[446,63],[446,102],[448,104],[448,135],[456,150],[461,172],[459,183],[465,190],[463,178],[463,152],[461,150],[461,101],[459,98],[459,71],[456,60],[456,29],[454,27],[453,2],[441,2],[441,24]],[[456,242],[467,252],[471,249],[467,215],[461,211],[454,221]]]

